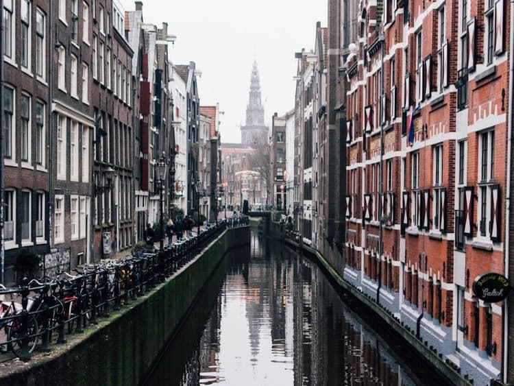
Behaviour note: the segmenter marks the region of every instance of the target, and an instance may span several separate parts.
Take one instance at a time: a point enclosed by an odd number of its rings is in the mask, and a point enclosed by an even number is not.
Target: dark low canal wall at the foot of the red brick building
[[[437,350],[429,346],[428,343],[421,341],[415,336],[412,330],[408,330],[402,325],[393,313],[384,307],[380,306],[362,291],[359,291],[350,282],[345,280],[338,272],[336,267],[332,267],[329,261],[319,251],[311,248],[310,245],[303,243],[301,240],[293,240],[284,237],[284,230],[281,224],[276,222],[271,223],[271,237],[280,243],[285,243],[293,250],[301,251],[314,261],[319,263],[323,272],[328,276],[337,288],[339,288],[345,295],[345,300],[348,305],[358,313],[358,315],[366,315],[365,319],[372,328],[383,336],[388,336],[389,339],[394,337],[396,341],[404,343],[401,347],[402,354],[416,357],[419,359],[419,365],[431,366],[435,371],[441,374],[448,383],[452,385],[472,385],[473,383],[462,376],[458,369],[445,361],[443,355],[438,353]],[[408,347],[406,346],[408,345]]]

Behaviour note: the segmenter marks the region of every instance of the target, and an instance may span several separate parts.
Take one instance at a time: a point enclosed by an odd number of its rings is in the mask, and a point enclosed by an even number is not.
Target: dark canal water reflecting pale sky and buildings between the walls
[[[144,385],[443,385],[351,311],[321,269],[252,233]]]

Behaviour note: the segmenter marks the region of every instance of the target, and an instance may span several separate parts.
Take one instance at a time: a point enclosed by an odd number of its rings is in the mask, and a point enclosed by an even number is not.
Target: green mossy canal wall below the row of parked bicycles
[[[4,363],[10,368],[3,369],[0,385],[140,384],[225,253],[249,242],[249,226],[228,228],[171,278],[82,335],[27,363]]]

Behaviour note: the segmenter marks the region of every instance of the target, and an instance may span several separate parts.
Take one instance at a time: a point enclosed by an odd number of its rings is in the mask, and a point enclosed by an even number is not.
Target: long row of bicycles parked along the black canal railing
[[[98,317],[106,317],[163,282],[199,254],[225,228],[244,226],[247,218],[219,221],[197,236],[156,252],[134,252],[118,261],[84,265],[72,274],[28,280],[18,287],[0,285],[0,354],[28,361],[32,352],[64,343]]]

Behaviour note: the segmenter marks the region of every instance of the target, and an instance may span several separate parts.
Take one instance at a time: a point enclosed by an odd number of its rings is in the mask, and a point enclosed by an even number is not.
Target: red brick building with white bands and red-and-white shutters
[[[343,8],[344,276],[488,383],[504,311],[472,285],[505,273],[508,4],[382,5]]]

